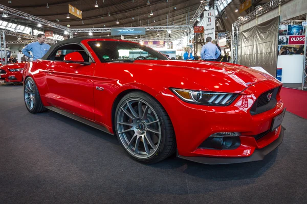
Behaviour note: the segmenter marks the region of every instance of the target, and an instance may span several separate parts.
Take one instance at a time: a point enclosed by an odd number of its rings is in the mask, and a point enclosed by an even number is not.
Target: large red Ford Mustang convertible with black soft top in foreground
[[[73,38],[27,63],[29,112],[47,109],[117,138],[132,158],[262,160],[283,139],[281,83],[229,63],[173,61],[138,43]]]

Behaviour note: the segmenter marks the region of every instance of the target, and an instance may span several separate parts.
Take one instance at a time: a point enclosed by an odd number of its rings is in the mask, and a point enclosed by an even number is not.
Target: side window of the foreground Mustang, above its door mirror
[[[58,47],[50,55],[48,60],[63,62],[65,55],[73,52],[80,53],[84,62],[90,62],[90,56],[86,53],[83,47],[78,44],[68,44]]]

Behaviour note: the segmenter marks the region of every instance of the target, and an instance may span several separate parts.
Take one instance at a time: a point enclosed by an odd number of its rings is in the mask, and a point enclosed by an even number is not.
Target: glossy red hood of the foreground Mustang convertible
[[[166,74],[168,78],[172,76],[170,80],[167,80],[170,87],[178,87],[172,85],[172,82],[178,84],[175,81],[180,79],[196,83],[204,90],[237,93],[255,83],[273,78],[267,73],[252,68],[221,62],[150,60],[145,63],[138,60],[135,63],[151,66],[160,74]]]

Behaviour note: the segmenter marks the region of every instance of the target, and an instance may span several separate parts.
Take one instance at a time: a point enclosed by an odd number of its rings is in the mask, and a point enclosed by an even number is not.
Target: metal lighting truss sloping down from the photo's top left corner
[[[31,20],[31,21],[34,21],[34,22],[37,22],[37,23],[44,24],[44,25],[48,25],[49,27],[52,27],[52,28],[55,28],[55,29],[59,29],[59,30],[63,30],[63,31],[69,30],[69,29],[67,29],[67,27],[64,27],[63,25],[60,25],[60,24],[57,24],[57,23],[36,17],[36,16],[32,16],[30,14],[18,11],[16,9],[6,7],[2,4],[0,4],[0,10],[2,10],[3,13],[18,16],[18,17],[21,17],[21,18],[25,18],[25,19],[28,19],[28,20]]]

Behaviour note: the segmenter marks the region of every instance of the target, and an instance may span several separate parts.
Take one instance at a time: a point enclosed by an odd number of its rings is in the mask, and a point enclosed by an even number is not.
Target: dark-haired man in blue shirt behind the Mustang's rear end
[[[31,42],[27,46],[25,46],[22,50],[23,54],[29,58],[33,58],[33,60],[37,60],[42,58],[44,56],[49,48],[49,44],[45,44],[46,37],[44,34],[38,34],[37,35],[37,42]],[[32,55],[29,54],[29,52],[32,52]]]

